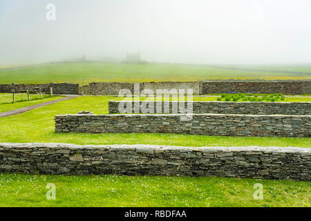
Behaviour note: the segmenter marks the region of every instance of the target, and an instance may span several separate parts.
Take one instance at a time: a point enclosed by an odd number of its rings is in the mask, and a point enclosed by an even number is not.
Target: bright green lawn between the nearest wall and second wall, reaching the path
[[[202,97],[198,97],[202,99]],[[216,99],[208,97],[207,99]],[[55,133],[55,115],[92,111],[108,113],[108,101],[119,97],[77,97],[0,118],[0,142],[64,142],[73,144],[159,144],[174,146],[301,146],[311,147],[308,137],[220,137],[164,133]]]

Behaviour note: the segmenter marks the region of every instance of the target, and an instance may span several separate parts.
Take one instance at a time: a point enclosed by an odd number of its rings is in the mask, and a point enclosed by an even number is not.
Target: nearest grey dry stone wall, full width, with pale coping
[[[1,173],[311,180],[311,148],[0,143]]]

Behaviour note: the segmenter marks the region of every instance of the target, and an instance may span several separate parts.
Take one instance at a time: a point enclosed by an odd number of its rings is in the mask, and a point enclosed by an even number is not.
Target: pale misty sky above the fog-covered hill
[[[0,65],[138,51],[159,62],[311,64],[311,1],[0,0]]]

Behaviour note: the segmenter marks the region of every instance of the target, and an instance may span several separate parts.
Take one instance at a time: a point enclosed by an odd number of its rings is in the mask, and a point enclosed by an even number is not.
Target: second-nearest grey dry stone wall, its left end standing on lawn
[[[311,137],[311,116],[223,114],[57,115],[55,116],[55,132]]]

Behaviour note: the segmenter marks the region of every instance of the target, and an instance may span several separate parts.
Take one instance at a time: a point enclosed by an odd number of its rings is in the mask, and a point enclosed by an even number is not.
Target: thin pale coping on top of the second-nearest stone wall
[[[106,115],[95,115],[95,114],[68,114],[68,115],[56,115],[55,117],[66,117],[66,116],[72,116],[72,117],[117,117],[117,116],[125,116],[125,117],[133,117],[133,116],[159,116],[159,117],[173,117],[173,116],[236,116],[236,117],[303,117],[308,118],[311,117],[311,115],[240,115],[240,114],[220,114],[220,113],[148,113],[148,114],[142,114],[142,113],[126,113],[126,114],[106,114]]]

